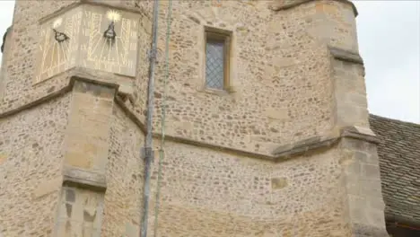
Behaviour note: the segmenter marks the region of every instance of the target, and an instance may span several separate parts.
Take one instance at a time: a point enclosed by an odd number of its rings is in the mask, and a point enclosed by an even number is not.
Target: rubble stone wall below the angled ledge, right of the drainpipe
[[[162,163],[160,236],[350,233],[337,148],[274,163],[170,142]]]

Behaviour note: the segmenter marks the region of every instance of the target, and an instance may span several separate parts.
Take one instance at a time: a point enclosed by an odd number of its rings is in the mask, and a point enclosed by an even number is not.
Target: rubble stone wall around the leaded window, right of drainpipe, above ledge
[[[273,11],[270,3],[223,1],[217,7],[212,1],[173,1],[168,134],[269,154],[276,145],[324,135],[333,127],[327,46],[357,52],[351,4],[314,1]],[[162,51],[166,4],[159,22]],[[205,26],[232,31],[232,92],[203,88]],[[158,109],[163,69],[159,64]],[[159,118],[154,122],[157,127]]]

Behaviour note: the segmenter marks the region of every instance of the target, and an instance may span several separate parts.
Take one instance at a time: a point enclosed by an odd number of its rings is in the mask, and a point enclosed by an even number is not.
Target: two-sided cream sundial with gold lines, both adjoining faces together
[[[35,83],[78,66],[136,76],[140,16],[81,4],[40,22]]]

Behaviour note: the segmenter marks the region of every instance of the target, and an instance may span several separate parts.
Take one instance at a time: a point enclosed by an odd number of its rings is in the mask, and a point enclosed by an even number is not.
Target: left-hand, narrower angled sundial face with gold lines
[[[73,67],[82,13],[75,9],[44,22],[40,27],[38,70],[35,83]]]

